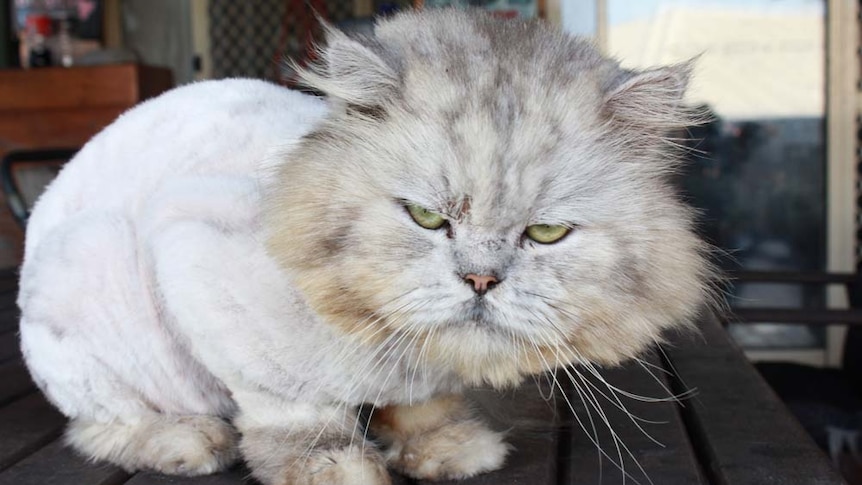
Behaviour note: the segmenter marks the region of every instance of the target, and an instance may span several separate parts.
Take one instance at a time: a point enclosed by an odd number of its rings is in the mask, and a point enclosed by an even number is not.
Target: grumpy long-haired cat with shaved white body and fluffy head
[[[38,200],[21,346],[79,452],[242,458],[266,485],[469,477],[509,448],[465,389],[616,365],[710,299],[668,180],[689,64],[458,10],[329,28],[318,61],[297,75],[325,100],[232,79],[147,101]]]

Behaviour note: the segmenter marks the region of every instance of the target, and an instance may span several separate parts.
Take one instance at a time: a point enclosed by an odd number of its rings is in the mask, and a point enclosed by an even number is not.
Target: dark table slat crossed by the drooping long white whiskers
[[[636,362],[617,369],[601,370],[599,373],[604,380],[622,391],[648,398],[670,398],[672,395],[672,391],[669,391],[670,383],[661,369],[660,359],[653,355],[644,360],[649,365],[658,367],[656,369],[646,366],[652,375]],[[678,404],[675,401],[646,402],[617,394],[619,399],[617,402],[607,385],[590,375],[586,369],[578,370],[591,384],[585,384],[573,373],[573,377],[582,389],[581,392],[601,403],[602,412],[613,423],[617,440],[628,447],[631,455],[622,445],[619,450],[617,449],[614,436],[591,406],[589,413],[595,424],[595,433],[593,432],[585,409],[586,405],[573,389],[570,393],[572,405],[587,431],[585,432],[577,424],[571,427],[569,450],[567,456],[561,458],[564,475],[562,483],[569,485],[617,485],[650,483],[650,481],[655,484],[674,485],[704,483],[697,456],[688,441],[685,427],[680,421]],[[614,401],[603,397],[599,394],[599,390]],[[592,391],[592,395],[589,391]],[[620,409],[621,407],[637,419],[629,418],[626,412]],[[599,453],[596,443],[602,447],[606,455]],[[625,477],[621,467],[625,470]]]

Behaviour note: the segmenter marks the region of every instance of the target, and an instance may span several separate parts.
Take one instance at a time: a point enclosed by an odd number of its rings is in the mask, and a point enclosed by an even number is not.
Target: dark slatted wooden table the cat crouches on
[[[198,478],[130,476],[114,466],[88,464],[65,448],[61,442],[65,419],[34,390],[21,362],[15,292],[14,272],[0,272],[0,485],[243,483],[248,472],[241,467]],[[843,483],[717,321],[705,318],[701,330],[701,336],[673,339],[672,345],[657,349],[643,363],[601,372],[632,394],[662,398],[694,392],[680,402],[628,397],[617,402],[595,377],[581,380],[571,370],[557,375],[565,393],[551,392],[552,384],[557,387],[552,377],[507,393],[474,392],[488,420],[509,430],[515,450],[504,469],[457,483]],[[603,414],[587,412],[569,374],[587,399],[601,401]],[[612,425],[617,444],[605,420]],[[604,456],[593,441],[601,445]],[[625,480],[621,468],[628,475]],[[396,477],[397,485],[416,483],[425,485]]]

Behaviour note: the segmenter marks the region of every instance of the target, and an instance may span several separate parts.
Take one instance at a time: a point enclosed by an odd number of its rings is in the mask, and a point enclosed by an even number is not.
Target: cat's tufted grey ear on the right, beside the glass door
[[[605,91],[604,108],[615,121],[649,131],[696,122],[683,105],[695,59],[646,71],[617,71]]]

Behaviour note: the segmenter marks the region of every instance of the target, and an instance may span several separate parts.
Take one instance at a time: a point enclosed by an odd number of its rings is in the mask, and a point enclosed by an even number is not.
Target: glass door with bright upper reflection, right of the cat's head
[[[826,265],[824,0],[607,0],[606,50],[625,67],[697,57],[687,102],[713,120],[687,134],[679,183],[726,269]],[[601,9],[600,9],[601,10]],[[737,307],[822,306],[791,285],[736,285]],[[733,325],[748,349],[822,349],[822,328]]]

